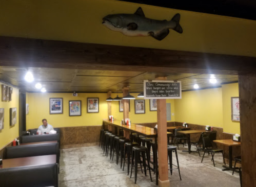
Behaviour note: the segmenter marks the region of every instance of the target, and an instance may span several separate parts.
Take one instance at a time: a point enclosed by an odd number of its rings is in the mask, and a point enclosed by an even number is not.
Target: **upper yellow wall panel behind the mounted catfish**
[[[134,13],[170,20],[181,14],[183,34],[170,31],[162,41],[128,37],[102,25],[108,14]],[[24,38],[140,46],[256,57],[256,21],[113,0],[1,0],[0,35]]]

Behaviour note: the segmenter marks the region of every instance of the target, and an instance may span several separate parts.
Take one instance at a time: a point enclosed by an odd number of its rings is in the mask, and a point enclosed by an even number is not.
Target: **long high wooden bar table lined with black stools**
[[[112,125],[114,127],[119,127],[119,128],[124,129],[124,130],[127,130],[131,133],[140,134],[140,135],[143,135],[145,137],[154,137],[155,138],[155,144],[157,145],[157,134],[154,133],[153,128],[145,127],[145,126],[142,126],[142,125],[136,125],[136,124],[131,124],[130,126],[127,126],[127,125],[122,125],[121,122],[122,121],[120,121],[120,120],[115,120],[114,122],[109,122],[109,121],[103,120],[104,124]],[[172,133],[167,132],[167,134],[172,134]],[[156,161],[155,164],[156,164],[156,166],[158,166],[157,146],[155,146],[154,152],[156,153],[155,157],[154,157],[154,160]],[[156,170],[157,170],[157,168],[158,167],[156,167]],[[154,171],[153,168],[151,168],[151,169]],[[155,183],[156,183],[156,185],[158,185],[158,172],[155,172]]]

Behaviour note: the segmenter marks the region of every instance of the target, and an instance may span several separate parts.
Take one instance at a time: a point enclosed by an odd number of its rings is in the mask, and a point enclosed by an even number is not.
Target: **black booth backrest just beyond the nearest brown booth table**
[[[5,159],[55,154],[56,162],[59,163],[59,150],[58,143],[12,146],[5,149]]]

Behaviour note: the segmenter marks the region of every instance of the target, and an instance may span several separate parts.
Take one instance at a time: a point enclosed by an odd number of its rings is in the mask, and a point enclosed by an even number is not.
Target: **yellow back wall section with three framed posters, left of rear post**
[[[42,119],[47,119],[53,127],[94,126],[102,125],[102,120],[108,116],[106,93],[28,93],[29,114],[27,115],[27,129],[38,128]],[[50,114],[50,98],[63,98],[63,114]],[[99,98],[99,113],[87,113],[87,98]],[[69,101],[82,101],[82,115],[69,116]]]

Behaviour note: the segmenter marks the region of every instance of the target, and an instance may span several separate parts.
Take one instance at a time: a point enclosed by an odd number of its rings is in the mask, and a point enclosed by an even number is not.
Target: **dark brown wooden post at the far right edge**
[[[256,74],[239,76],[243,187],[256,186]]]

